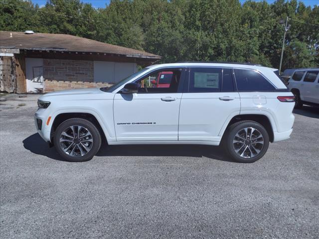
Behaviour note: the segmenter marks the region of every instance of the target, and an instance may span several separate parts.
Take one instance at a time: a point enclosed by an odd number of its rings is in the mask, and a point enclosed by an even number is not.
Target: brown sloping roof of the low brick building
[[[12,37],[10,36],[12,35]],[[0,31],[0,47],[15,47],[21,50],[54,50],[69,52],[91,52],[123,55],[126,57],[160,59],[159,55],[112,45],[68,34]]]

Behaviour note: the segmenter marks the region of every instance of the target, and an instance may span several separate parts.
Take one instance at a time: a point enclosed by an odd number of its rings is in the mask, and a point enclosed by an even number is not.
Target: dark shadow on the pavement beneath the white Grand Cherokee
[[[55,148],[50,148],[38,133],[30,135],[22,142],[24,148],[32,153],[64,161]],[[103,143],[96,156],[184,156],[235,162],[223,152],[221,147],[208,145],[107,145]]]

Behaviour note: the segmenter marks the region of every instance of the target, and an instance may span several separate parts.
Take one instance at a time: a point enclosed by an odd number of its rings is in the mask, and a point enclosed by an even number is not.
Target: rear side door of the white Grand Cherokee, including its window
[[[231,68],[190,67],[180,103],[178,140],[220,141],[225,121],[240,113]]]

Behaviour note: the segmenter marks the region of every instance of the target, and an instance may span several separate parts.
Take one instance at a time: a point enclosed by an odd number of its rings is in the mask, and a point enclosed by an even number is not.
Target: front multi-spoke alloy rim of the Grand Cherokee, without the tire
[[[84,156],[91,150],[92,146],[92,134],[83,126],[69,126],[60,134],[60,147],[66,154],[70,156]]]

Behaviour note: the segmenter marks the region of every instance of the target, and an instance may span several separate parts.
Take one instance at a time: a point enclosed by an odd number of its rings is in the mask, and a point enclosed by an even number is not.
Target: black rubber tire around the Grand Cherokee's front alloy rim
[[[86,154],[84,154],[82,156],[81,155],[71,156],[70,154],[64,152],[63,144],[60,143],[60,137],[63,137],[61,135],[61,133],[65,129],[67,129],[68,127],[74,126],[74,125],[76,125],[76,127],[81,126],[85,130],[89,131],[91,134],[92,140],[93,140],[92,145],[90,144],[91,149]],[[92,122],[90,122],[89,120],[80,119],[80,118],[67,119],[64,122],[62,122],[57,127],[53,140],[54,140],[54,146],[55,146],[57,152],[60,154],[60,156],[64,160],[70,161],[70,162],[84,162],[84,161],[88,161],[88,160],[92,159],[93,156],[99,151],[99,149],[101,147],[101,141],[102,141],[101,134],[100,134],[99,130],[96,128],[96,126]],[[79,147],[77,147],[76,149],[80,150]]]

